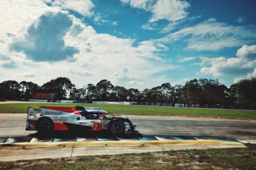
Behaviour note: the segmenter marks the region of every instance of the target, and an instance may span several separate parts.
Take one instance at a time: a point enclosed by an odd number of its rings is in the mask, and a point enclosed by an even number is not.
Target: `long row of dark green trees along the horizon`
[[[256,78],[243,79],[229,88],[219,83],[218,80],[212,79],[193,79],[187,81],[184,86],[171,86],[170,83],[163,83],[143,91],[114,86],[108,80],[101,80],[96,85],[87,84],[82,88],[75,88],[69,78],[58,77],[42,86],[26,81],[20,83],[13,80],[3,81],[0,83],[0,98],[9,100],[14,98],[29,99],[32,97],[34,89],[55,89],[58,100],[222,104],[255,107],[255,87]]]

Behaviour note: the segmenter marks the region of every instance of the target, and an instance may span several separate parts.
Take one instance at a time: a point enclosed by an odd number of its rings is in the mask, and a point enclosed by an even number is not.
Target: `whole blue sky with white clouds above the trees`
[[[0,82],[126,88],[256,76],[255,0],[0,0]]]

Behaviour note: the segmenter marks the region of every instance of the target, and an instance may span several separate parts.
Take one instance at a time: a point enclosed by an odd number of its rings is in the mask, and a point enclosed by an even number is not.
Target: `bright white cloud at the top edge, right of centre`
[[[150,22],[166,19],[169,21],[177,21],[187,17],[186,9],[190,4],[180,0],[158,0],[152,6],[152,17]]]

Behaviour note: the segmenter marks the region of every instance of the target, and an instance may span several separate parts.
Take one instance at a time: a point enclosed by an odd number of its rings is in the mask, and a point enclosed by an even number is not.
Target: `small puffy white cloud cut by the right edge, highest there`
[[[246,60],[256,59],[256,45],[243,45],[242,48],[237,50],[237,56],[242,57]]]

